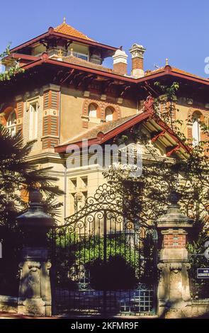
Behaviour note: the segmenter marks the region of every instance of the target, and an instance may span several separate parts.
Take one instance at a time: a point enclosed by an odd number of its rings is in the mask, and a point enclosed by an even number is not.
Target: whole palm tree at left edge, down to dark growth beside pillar
[[[18,263],[23,235],[16,226],[16,217],[28,206],[21,192],[26,194],[40,188],[45,195],[45,211],[57,216],[60,203],[55,201],[62,191],[55,185],[57,179],[49,176],[50,168],[38,169],[28,162],[33,142],[23,143],[21,132],[11,137],[0,125],[0,241],[3,258],[0,259],[0,293],[17,295]]]

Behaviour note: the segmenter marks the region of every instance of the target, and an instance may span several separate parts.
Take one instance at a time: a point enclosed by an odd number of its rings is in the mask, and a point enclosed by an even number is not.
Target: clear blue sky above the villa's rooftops
[[[49,26],[67,23],[101,43],[147,48],[145,69],[169,64],[188,72],[205,74],[209,56],[208,0],[35,0],[3,1],[0,6],[0,50],[41,33]],[[111,60],[106,64],[111,65]]]

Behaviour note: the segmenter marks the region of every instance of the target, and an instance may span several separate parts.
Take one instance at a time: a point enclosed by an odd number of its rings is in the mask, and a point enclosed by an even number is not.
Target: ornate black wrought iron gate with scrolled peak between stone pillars
[[[157,233],[126,218],[111,186],[100,186],[50,239],[54,313],[154,314]]]

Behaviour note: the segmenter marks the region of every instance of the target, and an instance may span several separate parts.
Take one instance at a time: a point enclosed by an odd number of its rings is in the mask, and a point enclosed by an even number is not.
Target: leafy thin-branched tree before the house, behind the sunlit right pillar
[[[191,283],[194,286],[198,283],[196,281],[197,265],[205,266],[205,257],[198,256],[197,262],[196,254],[203,250],[205,241],[208,239],[209,162],[204,154],[208,152],[208,142],[201,141],[193,146],[193,142],[183,134],[183,122],[174,120],[174,111],[179,112],[176,108],[179,84],[174,82],[171,86],[161,86],[157,83],[156,89],[156,95],[160,97],[154,98],[153,118],[163,120],[176,132],[177,137],[187,147],[186,156],[172,161],[166,158],[159,160],[157,149],[149,145],[146,135],[143,135],[140,130],[132,130],[132,140],[145,145],[152,159],[144,163],[140,177],[130,176],[130,171],[124,169],[122,164],[111,166],[104,172],[104,176],[115,191],[123,197],[124,209],[130,220],[137,221],[136,223],[140,225],[154,225],[157,218],[166,212],[171,191],[179,193],[181,210],[194,220],[193,233],[188,244],[190,254],[193,254],[190,256],[190,261],[193,266]],[[200,126],[201,130],[208,134],[208,127],[204,123],[200,123]],[[125,135],[118,137],[120,143],[123,138],[125,138],[124,141],[127,140]],[[206,288],[208,283],[202,282]]]

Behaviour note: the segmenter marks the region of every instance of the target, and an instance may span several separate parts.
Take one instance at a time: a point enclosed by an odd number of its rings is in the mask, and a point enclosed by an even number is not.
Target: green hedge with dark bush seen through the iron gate
[[[57,286],[76,289],[78,281],[90,282],[92,288],[101,290],[134,288],[139,281],[152,286],[154,249],[152,237],[147,236],[143,241],[145,246],[148,245],[146,249],[143,242],[139,247],[133,242],[132,235],[125,235],[124,232],[109,235],[105,248],[103,237],[81,237],[70,230],[60,230],[56,238],[54,264]]]

